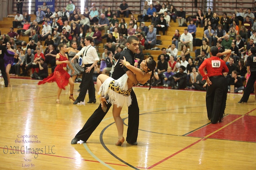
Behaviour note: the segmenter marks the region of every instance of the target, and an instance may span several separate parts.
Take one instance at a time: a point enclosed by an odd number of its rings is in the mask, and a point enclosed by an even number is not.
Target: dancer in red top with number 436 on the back
[[[210,58],[204,60],[200,65],[199,71],[208,84],[206,92],[206,107],[208,119],[211,123],[217,123],[221,119],[221,106],[224,89],[228,86],[226,78],[222,72],[228,72],[225,61],[216,57],[219,52],[218,47],[212,46],[210,49]],[[207,73],[205,72],[207,70]],[[221,120],[220,120],[221,121]]]

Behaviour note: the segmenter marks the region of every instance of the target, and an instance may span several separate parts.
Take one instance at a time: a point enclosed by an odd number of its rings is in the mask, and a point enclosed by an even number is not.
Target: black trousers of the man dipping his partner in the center
[[[139,128],[139,107],[136,95],[134,91],[131,92],[132,104],[128,107],[128,129],[126,141],[128,143],[134,143],[137,141],[138,128]],[[107,104],[107,111],[112,105]],[[88,140],[92,132],[98,127],[106,113],[103,112],[101,105],[94,111],[91,117],[87,120],[84,127],[76,134],[76,138],[84,142]]]

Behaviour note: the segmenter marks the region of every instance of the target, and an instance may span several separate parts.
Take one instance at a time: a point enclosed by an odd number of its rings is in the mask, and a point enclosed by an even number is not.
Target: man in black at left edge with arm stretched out
[[[6,50],[6,47],[4,47],[2,44],[3,44],[3,41],[2,41],[2,39],[0,39],[0,70],[1,70],[3,78],[4,78],[4,84],[6,87],[8,87],[8,80],[7,80],[7,75],[6,75],[5,67],[4,67],[4,54],[6,54],[7,56],[10,56],[10,57],[14,57],[14,55],[9,54]],[[15,54],[15,55],[18,56],[17,54]]]

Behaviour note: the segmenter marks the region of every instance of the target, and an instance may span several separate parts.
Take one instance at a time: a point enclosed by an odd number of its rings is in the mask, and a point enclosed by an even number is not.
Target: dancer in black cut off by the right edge
[[[238,103],[246,103],[256,80],[256,47],[251,48],[252,55],[247,58],[247,74],[251,74],[244,88],[244,95]]]

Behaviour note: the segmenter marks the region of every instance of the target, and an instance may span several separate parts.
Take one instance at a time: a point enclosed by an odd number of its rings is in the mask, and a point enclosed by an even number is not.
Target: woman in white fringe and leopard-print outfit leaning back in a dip
[[[135,74],[138,82],[140,82],[141,84],[145,84],[148,79],[150,79],[151,84],[151,80],[154,75],[154,69],[156,67],[156,62],[153,59],[148,58],[146,60],[143,60],[140,63],[140,68],[132,66],[128,61],[126,61],[125,57],[123,60],[120,60],[120,63],[120,65],[126,66],[126,68],[128,68]],[[125,103],[127,104],[127,106],[131,105],[132,99],[130,96],[130,92],[132,91],[132,86],[133,83],[128,78],[127,74],[124,74],[118,80],[114,80],[113,78],[106,76],[105,74],[100,74],[97,78],[97,87],[99,89],[98,94],[100,95],[102,110],[106,112],[106,102],[113,104],[112,112],[118,131],[118,142],[116,143],[117,146],[122,146],[124,142],[124,124],[122,118],[120,117],[120,113],[122,110],[122,106]],[[150,88],[151,86],[149,87],[149,90]]]

